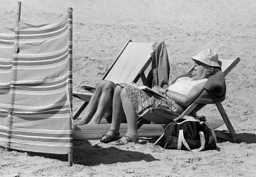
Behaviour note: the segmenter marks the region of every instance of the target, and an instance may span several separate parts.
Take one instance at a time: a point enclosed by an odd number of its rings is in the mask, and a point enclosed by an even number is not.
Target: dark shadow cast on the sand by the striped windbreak
[[[100,144],[102,145],[102,144]],[[123,163],[123,162],[138,162],[145,160],[147,162],[159,160],[154,158],[150,154],[145,154],[143,152],[122,150],[114,146],[109,146],[103,148],[96,145],[91,145],[89,141],[73,141],[73,163],[80,164],[84,166],[97,166],[100,164],[112,164],[112,163]],[[127,147],[129,148],[129,147]],[[68,161],[68,155],[59,155],[59,154],[48,154],[41,152],[26,152],[15,149],[9,149],[10,151],[14,150],[17,152],[27,153],[29,156],[40,156],[49,159]]]

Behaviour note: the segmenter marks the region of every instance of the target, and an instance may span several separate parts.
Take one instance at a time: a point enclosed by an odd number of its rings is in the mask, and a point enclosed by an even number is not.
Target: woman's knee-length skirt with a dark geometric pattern
[[[163,98],[154,93],[140,90],[128,83],[118,83],[117,85],[125,88],[130,103],[138,116],[143,116],[151,109],[157,109],[161,112],[166,112],[175,116],[179,116],[184,112],[184,110],[186,110],[186,107],[177,104],[168,96]]]

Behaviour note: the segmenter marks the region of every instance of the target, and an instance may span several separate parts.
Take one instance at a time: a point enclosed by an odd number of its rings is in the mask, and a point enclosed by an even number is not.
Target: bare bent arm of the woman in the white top
[[[206,81],[195,85],[186,96],[171,90],[166,92],[166,96],[173,99],[178,104],[188,107],[195,100],[195,98],[197,98],[203,92],[205,83]],[[159,90],[161,93],[165,93],[166,91],[166,89],[163,88],[160,88]]]

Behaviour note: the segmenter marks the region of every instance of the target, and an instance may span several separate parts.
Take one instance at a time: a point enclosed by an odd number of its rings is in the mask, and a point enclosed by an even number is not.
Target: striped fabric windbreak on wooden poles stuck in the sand
[[[17,21],[13,57],[9,51],[0,57],[6,64],[0,68],[0,83],[6,85],[0,88],[0,146],[68,154],[69,166],[73,164],[72,12],[69,8],[67,14],[44,22]],[[0,46],[6,42],[9,49],[5,37]]]

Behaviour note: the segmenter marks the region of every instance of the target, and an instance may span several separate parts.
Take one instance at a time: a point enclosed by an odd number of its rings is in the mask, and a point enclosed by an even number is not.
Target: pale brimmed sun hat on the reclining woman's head
[[[211,48],[199,52],[197,55],[191,57],[192,60],[202,62],[209,66],[220,67],[221,61],[218,60],[218,54]]]

